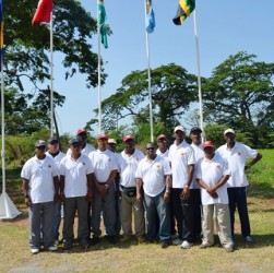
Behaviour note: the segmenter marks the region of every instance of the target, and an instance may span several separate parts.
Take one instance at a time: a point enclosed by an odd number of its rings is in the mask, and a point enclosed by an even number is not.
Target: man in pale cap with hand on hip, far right
[[[234,236],[235,211],[237,207],[241,223],[242,237],[247,242],[252,242],[252,238],[250,237],[251,230],[247,204],[248,180],[245,170],[249,169],[252,165],[259,162],[262,158],[262,155],[248,145],[236,142],[236,133],[233,129],[225,130],[224,138],[226,140],[226,144],[218,147],[216,152],[227,159],[231,170],[231,176],[227,181],[231,233]],[[252,161],[246,165],[248,159]]]

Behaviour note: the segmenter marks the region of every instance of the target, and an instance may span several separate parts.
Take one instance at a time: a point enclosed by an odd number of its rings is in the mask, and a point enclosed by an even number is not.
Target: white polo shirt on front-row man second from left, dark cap
[[[67,155],[60,164],[60,175],[64,176],[65,198],[85,197],[87,193],[86,175],[94,173],[91,159],[81,154],[78,159]]]

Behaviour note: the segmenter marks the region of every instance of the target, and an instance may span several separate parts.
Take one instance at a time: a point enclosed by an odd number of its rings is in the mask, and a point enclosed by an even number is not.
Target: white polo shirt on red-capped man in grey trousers
[[[99,183],[105,183],[112,170],[118,170],[118,164],[115,153],[108,149],[104,152],[96,150],[90,153],[88,157],[94,167],[94,175]]]

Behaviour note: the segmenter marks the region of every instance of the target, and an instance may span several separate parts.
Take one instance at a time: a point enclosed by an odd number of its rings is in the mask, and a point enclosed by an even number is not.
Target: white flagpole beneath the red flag
[[[53,136],[53,16],[50,12],[50,136]]]

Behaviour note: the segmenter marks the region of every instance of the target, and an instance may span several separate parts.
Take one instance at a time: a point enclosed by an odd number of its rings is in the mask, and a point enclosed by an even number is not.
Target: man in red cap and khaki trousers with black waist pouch
[[[121,189],[121,219],[123,238],[121,241],[128,241],[132,236],[132,213],[134,216],[135,236],[139,242],[144,242],[145,223],[144,206],[136,200],[135,173],[141,159],[144,158],[143,152],[135,149],[133,135],[123,136],[124,150],[121,152],[123,163],[120,171]]]

